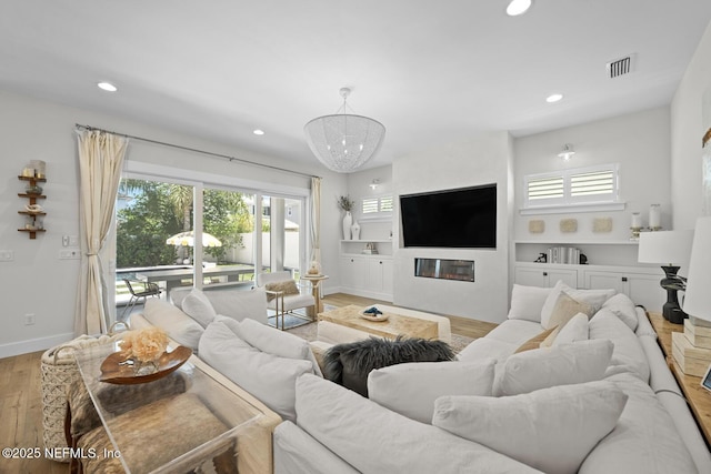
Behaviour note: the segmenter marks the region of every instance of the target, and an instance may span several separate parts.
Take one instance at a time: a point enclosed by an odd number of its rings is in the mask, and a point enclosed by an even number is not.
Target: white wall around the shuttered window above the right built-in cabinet
[[[669,190],[670,155],[669,108],[657,108],[612,119],[585,123],[517,139],[514,149],[517,240],[625,240],[630,238],[632,212],[640,212],[648,224],[650,204],[661,204],[662,226],[671,229]],[[565,162],[558,157],[563,143],[572,143],[575,154]],[[521,215],[525,196],[523,178],[562,169],[595,164],[620,164],[620,200],[623,211],[579,212],[563,214]],[[560,220],[578,220],[578,231],[561,233]],[[612,218],[612,231],[593,233],[595,218]],[[545,231],[529,232],[530,220],[543,220]]]

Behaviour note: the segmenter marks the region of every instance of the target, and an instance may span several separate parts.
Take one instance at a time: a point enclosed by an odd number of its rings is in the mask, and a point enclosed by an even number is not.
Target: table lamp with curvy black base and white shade
[[[662,263],[664,278],[659,283],[667,290],[667,303],[662,309],[665,320],[681,324],[687,314],[679,306],[677,292],[684,290],[684,279],[677,272],[680,265],[689,262],[693,231],[641,232],[638,261],[642,263]]]

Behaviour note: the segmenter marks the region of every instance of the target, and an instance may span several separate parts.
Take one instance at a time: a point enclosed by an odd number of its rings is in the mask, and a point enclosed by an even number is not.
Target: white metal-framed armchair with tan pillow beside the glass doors
[[[306,289],[302,291],[298,288],[290,271],[258,273],[257,286],[263,286],[267,291],[267,307],[276,314],[274,326],[277,329],[279,329],[279,317],[281,316],[282,331],[287,313],[304,319],[304,316],[293,313],[293,310],[316,305],[313,295]],[[306,319],[311,320],[310,317]]]

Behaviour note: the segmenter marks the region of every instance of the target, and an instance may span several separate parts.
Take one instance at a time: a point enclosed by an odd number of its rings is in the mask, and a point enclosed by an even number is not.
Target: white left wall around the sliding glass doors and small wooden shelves
[[[79,233],[76,123],[319,174],[324,177],[324,199],[343,194],[347,189],[346,177],[327,171],[316,159],[313,165],[299,165],[117,117],[0,91],[0,177],[3,177],[0,180],[0,250],[14,252],[13,261],[0,262],[0,295],[3,302],[0,312],[0,357],[43,350],[73,336],[79,261],[59,260],[58,256],[62,249],[61,236]],[[268,183],[270,186],[309,188],[309,180],[304,177],[229,163],[227,160],[138,141],[131,142],[129,159],[230,177],[240,184],[251,182],[256,185]],[[47,162],[44,194],[48,199],[41,203],[48,213],[44,219],[47,232],[38,234],[37,240],[29,240],[27,233],[17,231],[24,222],[17,211],[26,204],[17,195],[24,188],[17,177],[29,160]],[[338,209],[324,206],[321,252],[323,269],[333,279],[326,282],[327,292],[329,286],[339,285],[338,221]],[[34,325],[24,325],[22,322],[22,316],[29,313],[34,314]]]

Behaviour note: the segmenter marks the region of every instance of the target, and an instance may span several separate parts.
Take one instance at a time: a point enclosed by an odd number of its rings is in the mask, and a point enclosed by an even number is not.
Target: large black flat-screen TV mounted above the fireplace
[[[497,248],[497,184],[400,196],[405,248]]]

